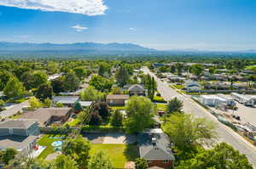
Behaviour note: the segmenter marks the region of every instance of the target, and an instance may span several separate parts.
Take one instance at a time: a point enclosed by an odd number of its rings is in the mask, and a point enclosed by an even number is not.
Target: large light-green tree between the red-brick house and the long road
[[[196,144],[211,145],[217,138],[213,122],[190,114],[171,115],[162,128],[178,149],[190,149]]]

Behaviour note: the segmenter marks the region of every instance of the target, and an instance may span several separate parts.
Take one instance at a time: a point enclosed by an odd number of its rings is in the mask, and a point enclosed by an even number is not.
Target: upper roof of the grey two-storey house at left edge
[[[28,128],[35,122],[32,119],[7,120],[0,123],[0,128]]]

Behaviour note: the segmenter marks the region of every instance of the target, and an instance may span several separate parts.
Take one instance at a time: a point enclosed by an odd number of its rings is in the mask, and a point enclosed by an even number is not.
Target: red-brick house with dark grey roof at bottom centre
[[[161,129],[151,129],[138,135],[140,158],[147,160],[148,167],[172,168],[174,155],[168,136]]]

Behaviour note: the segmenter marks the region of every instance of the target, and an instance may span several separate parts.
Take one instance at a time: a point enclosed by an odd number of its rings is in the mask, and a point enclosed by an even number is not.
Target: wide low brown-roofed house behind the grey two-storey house
[[[38,110],[26,111],[23,119],[34,119],[41,127],[47,127],[52,123],[63,123],[70,117],[71,108],[40,108]]]

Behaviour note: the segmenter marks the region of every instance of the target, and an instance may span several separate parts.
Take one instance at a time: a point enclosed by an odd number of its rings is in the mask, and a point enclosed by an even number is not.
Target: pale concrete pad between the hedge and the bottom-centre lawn
[[[92,144],[135,144],[137,136],[127,135],[125,133],[85,133],[84,138],[87,138]]]

